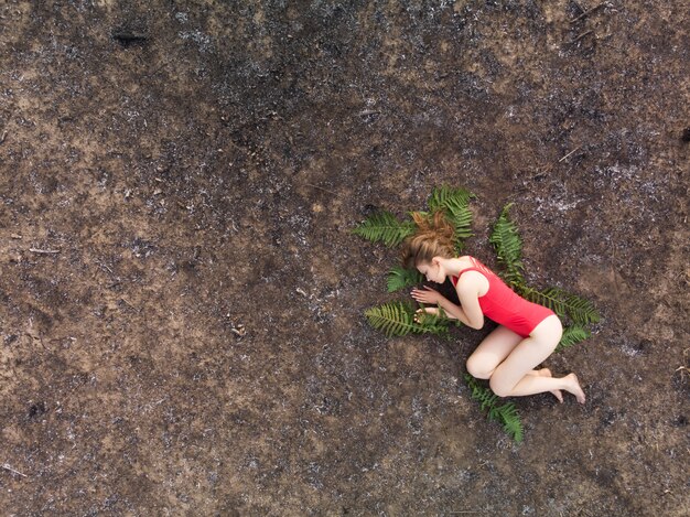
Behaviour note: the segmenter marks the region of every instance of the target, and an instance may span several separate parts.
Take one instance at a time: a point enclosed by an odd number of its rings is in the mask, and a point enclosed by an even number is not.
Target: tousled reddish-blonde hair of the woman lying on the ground
[[[455,256],[453,237],[455,229],[443,212],[428,216],[412,213],[417,231],[402,245],[402,266],[412,269],[422,262],[431,262],[434,257],[452,258]]]

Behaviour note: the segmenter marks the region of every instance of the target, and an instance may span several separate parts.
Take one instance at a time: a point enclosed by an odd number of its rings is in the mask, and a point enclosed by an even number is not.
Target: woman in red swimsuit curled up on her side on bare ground
[[[429,287],[413,289],[412,298],[443,309],[449,317],[472,328],[482,328],[485,316],[499,324],[470,356],[467,371],[489,379],[492,390],[499,397],[550,391],[562,402],[564,389],[584,403],[584,391],[574,374],[554,378],[548,368],[535,369],[561,340],[563,327],[558,316],[520,298],[475,258],[455,257],[454,230],[442,212],[432,218],[413,214],[413,218],[419,230],[405,244],[405,266],[416,267],[427,280],[436,283],[450,277],[460,305]],[[434,314],[438,308],[424,311]]]

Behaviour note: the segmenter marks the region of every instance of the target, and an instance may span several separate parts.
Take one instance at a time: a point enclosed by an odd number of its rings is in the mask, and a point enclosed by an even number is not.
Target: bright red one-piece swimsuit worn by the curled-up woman
[[[488,291],[478,298],[479,306],[486,317],[510,328],[521,337],[528,337],[539,323],[553,314],[550,309],[520,298],[490,269],[474,257],[468,258],[472,259],[474,266],[463,269],[451,280],[453,286],[457,286],[460,277],[467,271],[478,271],[486,277]]]

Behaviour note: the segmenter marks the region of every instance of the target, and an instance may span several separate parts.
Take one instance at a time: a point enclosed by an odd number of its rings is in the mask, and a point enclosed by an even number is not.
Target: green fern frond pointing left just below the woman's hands
[[[364,312],[369,324],[386,337],[413,334],[448,335],[450,320],[443,314],[417,314],[416,308],[406,302],[388,302]],[[417,317],[416,317],[417,316]]]

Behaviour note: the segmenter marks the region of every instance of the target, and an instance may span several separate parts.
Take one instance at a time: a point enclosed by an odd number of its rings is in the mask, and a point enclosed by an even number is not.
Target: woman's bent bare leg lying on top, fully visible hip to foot
[[[584,391],[574,374],[562,378],[533,374],[533,368],[551,355],[561,334],[562,326],[557,316],[541,322],[532,335],[518,343],[494,369],[489,381],[492,390],[499,397],[520,397],[564,389],[584,403]]]

